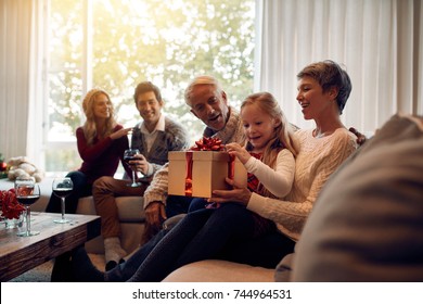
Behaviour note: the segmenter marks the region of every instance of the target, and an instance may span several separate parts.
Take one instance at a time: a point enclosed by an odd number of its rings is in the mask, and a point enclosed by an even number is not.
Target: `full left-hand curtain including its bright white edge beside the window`
[[[41,125],[35,121],[42,111],[36,103],[41,79],[34,48],[39,7],[38,0],[0,0],[0,153],[5,159],[35,160],[35,145],[41,145]]]

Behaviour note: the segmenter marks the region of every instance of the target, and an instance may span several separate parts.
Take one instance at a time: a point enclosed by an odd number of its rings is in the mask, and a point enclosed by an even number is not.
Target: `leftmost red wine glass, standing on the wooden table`
[[[40,198],[40,187],[35,183],[33,178],[15,180],[15,193],[17,201],[25,206],[25,231],[18,232],[20,237],[37,236],[40,231],[30,230],[30,205],[38,201]]]

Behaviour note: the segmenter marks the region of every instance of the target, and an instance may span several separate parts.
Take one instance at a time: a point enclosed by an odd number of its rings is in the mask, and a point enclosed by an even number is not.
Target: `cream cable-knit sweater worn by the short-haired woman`
[[[322,138],[315,138],[312,130],[298,130],[295,136],[300,151],[295,162],[294,185],[285,201],[253,193],[247,208],[273,220],[282,233],[297,241],[320,189],[357,149],[357,138],[344,128]]]

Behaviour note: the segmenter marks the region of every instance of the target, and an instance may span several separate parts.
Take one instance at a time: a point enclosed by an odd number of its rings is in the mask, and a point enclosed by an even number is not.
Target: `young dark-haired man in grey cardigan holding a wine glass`
[[[97,213],[102,220],[106,269],[111,269],[127,255],[120,246],[120,225],[115,198],[142,197],[153,175],[167,163],[169,151],[189,147],[187,130],[162,113],[164,101],[159,89],[150,81],[140,83],[133,99],[142,122],[133,128],[131,147],[138,149],[137,160],[130,162],[139,178],[140,187],[128,187],[128,180],[104,176],[93,183],[92,194]]]

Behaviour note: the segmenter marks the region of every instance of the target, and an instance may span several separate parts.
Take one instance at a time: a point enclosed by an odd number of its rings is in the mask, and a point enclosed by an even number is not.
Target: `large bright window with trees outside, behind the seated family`
[[[75,130],[92,87],[110,92],[130,127],[140,121],[133,90],[153,81],[192,140],[204,128],[183,102],[194,76],[217,77],[233,106],[253,91],[254,0],[50,0],[48,11],[48,172],[79,166]]]

